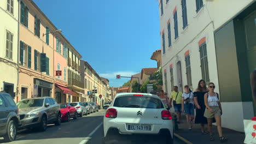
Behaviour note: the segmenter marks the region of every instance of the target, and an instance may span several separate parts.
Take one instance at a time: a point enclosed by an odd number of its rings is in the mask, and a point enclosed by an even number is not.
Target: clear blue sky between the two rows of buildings
[[[156,67],[150,59],[160,49],[159,8],[155,0],[34,0],[62,29],[63,35],[97,73],[119,87],[142,68]]]

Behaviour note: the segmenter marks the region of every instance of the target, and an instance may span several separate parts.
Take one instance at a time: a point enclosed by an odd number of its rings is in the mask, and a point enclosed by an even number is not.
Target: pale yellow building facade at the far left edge
[[[9,93],[16,101],[19,67],[19,2],[1,1],[0,17],[0,92]]]

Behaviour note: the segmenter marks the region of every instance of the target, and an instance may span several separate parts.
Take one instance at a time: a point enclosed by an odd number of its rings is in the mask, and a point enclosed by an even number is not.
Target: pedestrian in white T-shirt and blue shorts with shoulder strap
[[[189,86],[184,86],[185,92],[182,94],[182,112],[186,113],[188,130],[192,130],[192,123],[194,121],[194,94],[190,91]]]

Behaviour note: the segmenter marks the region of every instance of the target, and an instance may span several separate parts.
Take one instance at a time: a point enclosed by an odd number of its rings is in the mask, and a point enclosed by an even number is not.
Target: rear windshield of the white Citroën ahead
[[[116,98],[114,101],[115,107],[134,107],[134,108],[146,108],[146,109],[162,109],[162,101],[153,97],[137,97],[133,95],[127,95],[125,97]]]

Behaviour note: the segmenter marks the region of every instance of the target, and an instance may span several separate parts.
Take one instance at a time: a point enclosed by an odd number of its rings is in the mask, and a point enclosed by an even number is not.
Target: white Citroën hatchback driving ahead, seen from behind
[[[161,135],[173,143],[173,122],[170,111],[157,95],[119,93],[109,105],[103,119],[104,142],[123,134]]]

